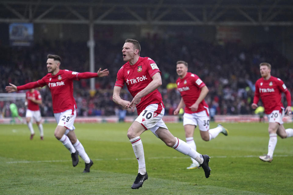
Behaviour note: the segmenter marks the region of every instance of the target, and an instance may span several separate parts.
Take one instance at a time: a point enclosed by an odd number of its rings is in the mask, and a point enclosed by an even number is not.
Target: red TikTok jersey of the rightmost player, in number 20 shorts
[[[262,99],[265,113],[270,114],[273,110],[282,110],[284,106],[281,102],[281,93],[287,91],[284,82],[271,76],[268,80],[260,78],[255,83],[255,94],[253,103],[257,104],[259,97]]]

